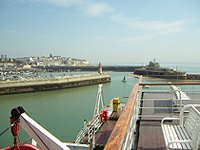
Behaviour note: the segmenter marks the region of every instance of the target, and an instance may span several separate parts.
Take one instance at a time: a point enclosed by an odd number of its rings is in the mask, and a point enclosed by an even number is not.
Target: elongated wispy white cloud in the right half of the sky
[[[133,29],[143,29],[154,33],[175,33],[184,31],[185,21],[162,22],[162,21],[141,21],[139,18],[129,18],[123,15],[113,15],[111,19]]]

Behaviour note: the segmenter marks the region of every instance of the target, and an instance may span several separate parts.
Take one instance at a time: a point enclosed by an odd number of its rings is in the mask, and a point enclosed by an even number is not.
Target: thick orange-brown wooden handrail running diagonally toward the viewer
[[[137,99],[137,93],[139,90],[139,84],[136,84],[129,96],[126,106],[120,115],[104,150],[119,150],[123,148],[123,143],[126,138],[126,134],[131,121],[134,105]]]

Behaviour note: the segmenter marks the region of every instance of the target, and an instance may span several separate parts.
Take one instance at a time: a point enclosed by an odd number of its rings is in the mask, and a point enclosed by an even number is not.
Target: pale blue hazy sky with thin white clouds
[[[0,54],[200,63],[200,1],[0,0]]]

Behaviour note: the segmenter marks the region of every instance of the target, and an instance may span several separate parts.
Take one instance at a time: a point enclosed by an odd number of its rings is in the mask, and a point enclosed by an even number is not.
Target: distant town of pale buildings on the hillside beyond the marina
[[[27,56],[19,58],[8,58],[6,54],[1,54],[0,70],[5,69],[30,69],[32,67],[46,66],[90,66],[91,63],[85,59],[54,56]]]

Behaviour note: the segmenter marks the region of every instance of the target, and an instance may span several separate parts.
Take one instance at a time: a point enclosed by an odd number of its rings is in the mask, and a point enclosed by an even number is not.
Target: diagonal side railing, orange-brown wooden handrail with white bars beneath
[[[132,149],[135,140],[140,101],[138,101],[139,84],[136,84],[123,108],[107,144],[105,150],[110,149]]]

